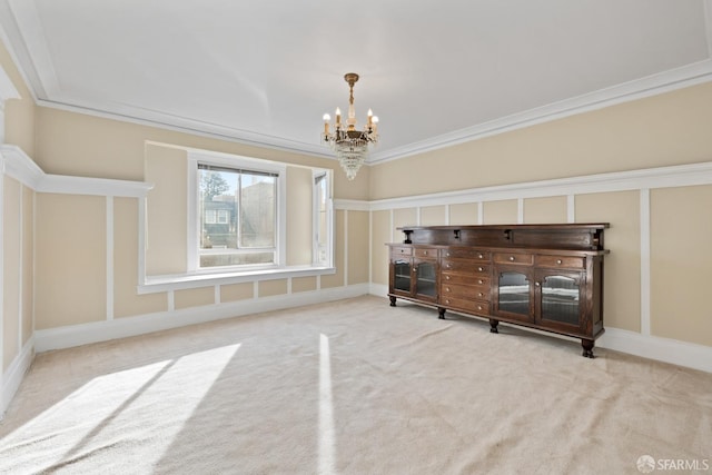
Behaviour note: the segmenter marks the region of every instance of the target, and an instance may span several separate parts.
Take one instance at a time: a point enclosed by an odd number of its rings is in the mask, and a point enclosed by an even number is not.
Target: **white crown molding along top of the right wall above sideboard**
[[[708,3],[712,3],[708,0]],[[708,13],[708,17],[710,13]],[[710,28],[708,28],[708,37]],[[467,141],[508,132],[537,123],[562,119],[564,117],[603,109],[623,102],[643,99],[650,96],[673,91],[676,89],[712,81],[712,60],[706,59],[681,68],[671,69],[657,75],[624,82],[599,91],[585,93],[571,99],[565,99],[547,106],[537,107],[523,112],[514,113],[485,123],[443,133],[432,139],[422,140],[405,147],[397,147],[383,152],[374,154],[369,165],[383,164],[411,157],[426,151],[433,151]]]

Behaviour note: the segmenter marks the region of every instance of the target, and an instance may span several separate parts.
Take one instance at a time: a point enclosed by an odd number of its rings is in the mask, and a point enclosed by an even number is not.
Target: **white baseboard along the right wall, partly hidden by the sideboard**
[[[388,286],[370,284],[369,294],[379,297],[386,296],[388,295]],[[540,333],[526,327],[520,328]],[[541,333],[557,336],[555,334],[547,334],[546,331]],[[641,356],[643,358],[655,359],[657,362],[712,373],[712,346],[642,335],[636,331],[623,330],[620,328],[606,328],[601,338],[596,340],[596,346],[626,353],[629,355]]]

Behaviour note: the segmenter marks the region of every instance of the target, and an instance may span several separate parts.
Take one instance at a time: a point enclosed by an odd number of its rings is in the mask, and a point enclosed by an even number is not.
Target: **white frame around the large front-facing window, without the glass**
[[[200,267],[199,236],[200,222],[198,212],[199,190],[198,190],[198,164],[212,165],[216,167],[248,169],[277,175],[277,198],[276,198],[276,244],[275,263],[267,265],[246,266],[216,266]],[[209,152],[205,150],[191,150],[188,152],[188,231],[187,231],[187,264],[188,274],[225,274],[244,273],[246,270],[261,270],[285,267],[287,255],[287,166],[270,160],[244,157],[229,154]],[[217,216],[216,216],[217,218]]]

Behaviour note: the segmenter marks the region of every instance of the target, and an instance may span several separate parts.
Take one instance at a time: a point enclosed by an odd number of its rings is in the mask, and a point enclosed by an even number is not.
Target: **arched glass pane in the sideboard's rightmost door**
[[[580,325],[581,286],[573,276],[543,276],[541,281],[542,320]]]

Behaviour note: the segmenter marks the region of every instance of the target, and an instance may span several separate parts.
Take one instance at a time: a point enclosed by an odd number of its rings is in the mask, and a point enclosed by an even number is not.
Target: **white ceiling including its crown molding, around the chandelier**
[[[380,161],[712,80],[712,0],[0,0],[39,103]]]

